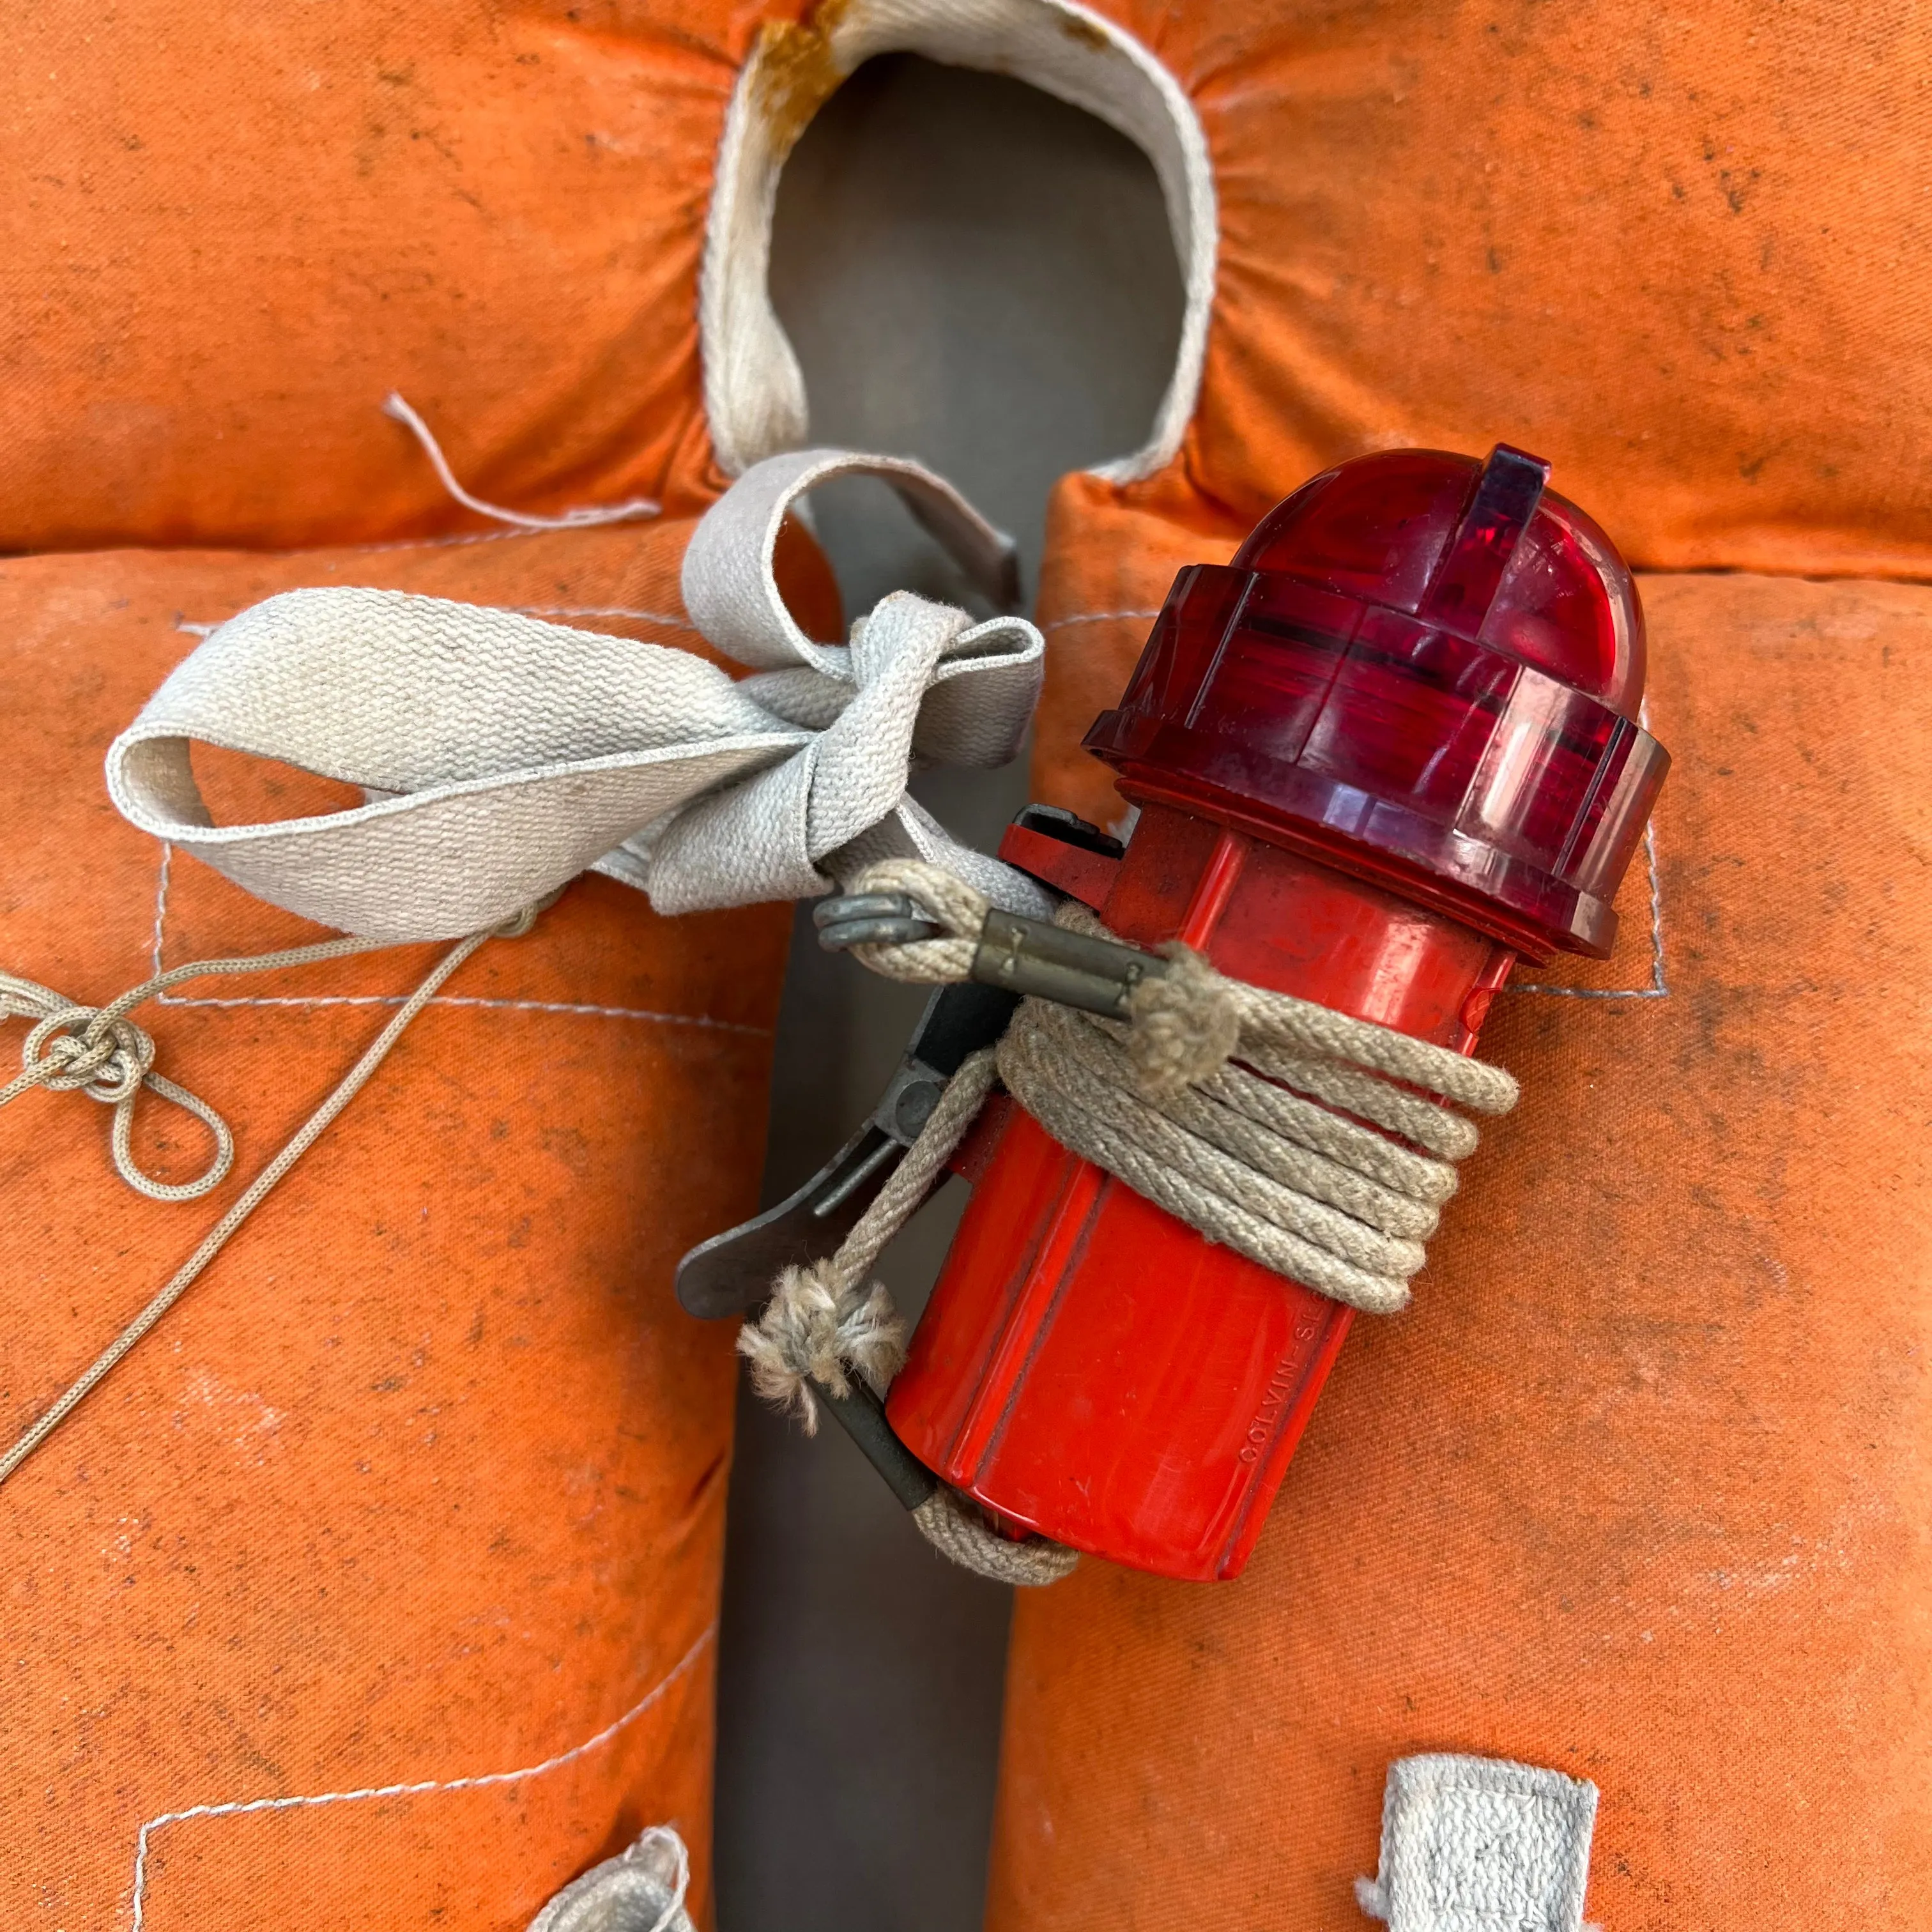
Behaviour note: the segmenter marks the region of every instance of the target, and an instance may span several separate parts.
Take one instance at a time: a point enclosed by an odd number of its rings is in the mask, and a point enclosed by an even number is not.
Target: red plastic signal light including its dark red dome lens
[[[1665,765],[1629,574],[1542,479],[1507,450],[1366,458],[1182,572],[1088,738],[1142,808],[1124,860],[1007,856],[1124,939],[1472,1051],[1517,952],[1607,951]],[[1016,1528],[1238,1575],[1350,1312],[1018,1109],[968,1167],[893,1428]]]

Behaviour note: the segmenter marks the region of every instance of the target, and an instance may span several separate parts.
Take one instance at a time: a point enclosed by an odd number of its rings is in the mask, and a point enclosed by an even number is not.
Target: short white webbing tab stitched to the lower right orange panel
[[[1397,1758],[1381,1868],[1356,1901],[1389,1932],[1582,1932],[1596,1785],[1503,1758]]]

